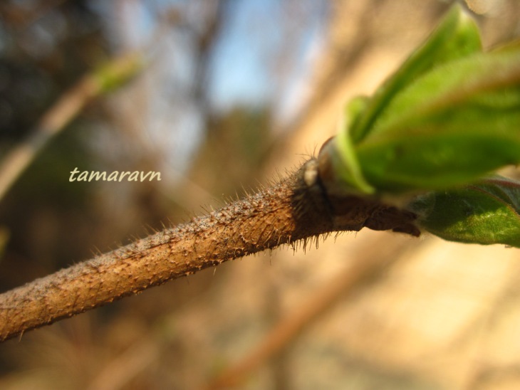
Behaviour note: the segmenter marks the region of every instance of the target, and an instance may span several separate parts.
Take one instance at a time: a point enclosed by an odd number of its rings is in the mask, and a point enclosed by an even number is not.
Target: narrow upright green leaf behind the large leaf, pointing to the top
[[[378,88],[363,117],[349,130],[353,142],[357,143],[368,135],[402,88],[438,65],[478,51],[482,51],[478,27],[462,7],[455,4],[427,41]]]

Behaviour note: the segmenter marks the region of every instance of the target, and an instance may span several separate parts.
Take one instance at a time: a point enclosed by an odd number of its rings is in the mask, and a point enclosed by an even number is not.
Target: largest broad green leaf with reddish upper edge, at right
[[[445,189],[520,163],[520,46],[426,73],[355,147],[380,191]]]

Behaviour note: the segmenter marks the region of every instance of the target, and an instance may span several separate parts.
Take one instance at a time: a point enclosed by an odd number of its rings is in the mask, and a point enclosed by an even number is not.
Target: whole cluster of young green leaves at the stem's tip
[[[482,181],[520,163],[519,42],[482,51],[477,24],[455,5],[343,115],[318,157],[329,193],[411,202],[417,224],[447,240],[520,246],[520,185]]]

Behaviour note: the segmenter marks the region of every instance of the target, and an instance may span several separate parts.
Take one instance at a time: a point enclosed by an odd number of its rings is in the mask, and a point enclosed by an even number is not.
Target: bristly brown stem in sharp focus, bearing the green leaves
[[[354,196],[328,199],[311,159],[288,178],[207,216],[166,228],[0,295],[0,340],[284,243],[333,231],[413,231],[410,213]],[[405,226],[406,228],[402,228]]]

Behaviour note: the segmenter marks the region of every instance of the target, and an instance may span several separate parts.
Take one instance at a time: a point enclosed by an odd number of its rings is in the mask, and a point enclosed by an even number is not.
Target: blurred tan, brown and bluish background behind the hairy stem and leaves
[[[461,3],[486,48],[520,36],[518,1]],[[450,4],[2,1],[0,162],[48,142],[0,199],[0,290],[298,167]],[[49,129],[84,75],[130,53],[145,62],[131,80]],[[70,182],[75,167],[162,180]],[[4,342],[0,388],[519,389],[519,282],[516,249],[343,233]]]

